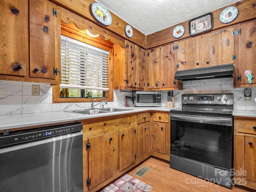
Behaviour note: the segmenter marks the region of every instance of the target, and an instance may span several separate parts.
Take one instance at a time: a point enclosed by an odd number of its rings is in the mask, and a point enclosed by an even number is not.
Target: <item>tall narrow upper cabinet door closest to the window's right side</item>
[[[131,42],[127,42],[127,87],[137,87],[137,59],[138,46]]]

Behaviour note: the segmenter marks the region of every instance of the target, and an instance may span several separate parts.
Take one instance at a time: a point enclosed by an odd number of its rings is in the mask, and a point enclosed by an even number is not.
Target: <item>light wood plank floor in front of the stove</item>
[[[142,166],[151,170],[142,178],[134,175]],[[148,158],[127,174],[153,187],[150,192],[248,192],[237,186],[228,189],[217,184],[207,182],[190,174],[170,168],[170,164],[156,158]]]

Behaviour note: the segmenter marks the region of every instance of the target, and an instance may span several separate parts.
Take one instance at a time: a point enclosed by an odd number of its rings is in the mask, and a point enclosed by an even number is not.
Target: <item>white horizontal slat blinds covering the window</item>
[[[108,54],[62,35],[60,87],[108,91]]]

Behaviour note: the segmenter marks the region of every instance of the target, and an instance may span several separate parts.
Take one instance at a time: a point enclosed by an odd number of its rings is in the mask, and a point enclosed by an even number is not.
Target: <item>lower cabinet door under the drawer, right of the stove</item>
[[[246,137],[244,140],[244,169],[246,180],[256,182],[256,137]]]

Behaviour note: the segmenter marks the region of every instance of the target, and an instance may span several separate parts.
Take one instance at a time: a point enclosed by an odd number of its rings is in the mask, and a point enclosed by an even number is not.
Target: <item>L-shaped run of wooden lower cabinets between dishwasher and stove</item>
[[[145,112],[84,119],[84,192],[96,192],[145,160],[169,160],[170,113]]]

